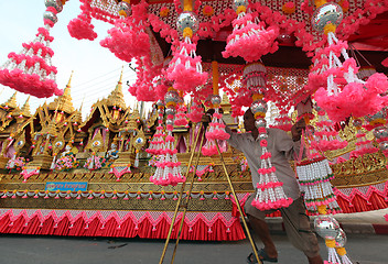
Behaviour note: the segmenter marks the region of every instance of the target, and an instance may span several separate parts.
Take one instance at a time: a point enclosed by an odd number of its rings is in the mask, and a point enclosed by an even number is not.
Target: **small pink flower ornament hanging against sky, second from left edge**
[[[82,13],[68,23],[68,33],[77,40],[94,41],[97,37],[97,33],[94,31],[95,26],[91,24],[90,2],[87,0],[80,0],[80,2],[82,4],[79,8]],[[120,2],[119,6],[120,4],[122,3]]]

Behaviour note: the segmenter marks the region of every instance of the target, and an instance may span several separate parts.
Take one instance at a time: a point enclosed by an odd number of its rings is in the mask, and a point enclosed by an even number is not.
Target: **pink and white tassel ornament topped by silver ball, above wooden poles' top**
[[[166,70],[168,79],[174,81],[176,90],[194,92],[196,87],[205,85],[208,74],[202,69],[201,56],[195,53],[196,44],[192,43],[193,34],[198,30],[195,13],[184,11],[177,18],[176,26],[183,35],[180,47]]]

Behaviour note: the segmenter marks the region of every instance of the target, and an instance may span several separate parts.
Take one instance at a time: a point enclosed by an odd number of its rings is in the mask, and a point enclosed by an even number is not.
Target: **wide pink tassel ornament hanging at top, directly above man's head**
[[[248,1],[235,1],[234,9],[238,16],[233,21],[233,33],[227,38],[223,56],[242,57],[246,62],[259,61],[262,55],[278,51],[279,29],[260,21],[254,22],[251,14],[246,13]]]

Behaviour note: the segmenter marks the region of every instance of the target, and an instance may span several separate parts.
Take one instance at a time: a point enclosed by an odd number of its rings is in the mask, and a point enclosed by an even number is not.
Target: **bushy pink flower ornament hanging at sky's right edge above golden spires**
[[[123,10],[125,3],[120,6],[120,19],[115,21],[115,28],[108,31],[109,36],[101,40],[100,45],[109,48],[118,58],[130,63],[133,57],[147,56],[150,53],[148,3],[141,1],[133,6],[132,15],[129,15],[128,10]]]

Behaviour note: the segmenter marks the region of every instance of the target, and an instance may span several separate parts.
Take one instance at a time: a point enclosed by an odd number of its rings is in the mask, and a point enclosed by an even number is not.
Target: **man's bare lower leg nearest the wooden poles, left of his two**
[[[273,244],[272,238],[269,233],[269,228],[266,221],[248,215],[250,227],[255,233],[259,235],[261,242],[265,244],[265,251],[269,257],[278,257],[277,248]]]

